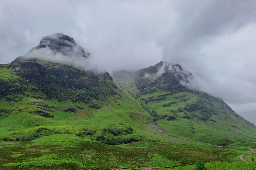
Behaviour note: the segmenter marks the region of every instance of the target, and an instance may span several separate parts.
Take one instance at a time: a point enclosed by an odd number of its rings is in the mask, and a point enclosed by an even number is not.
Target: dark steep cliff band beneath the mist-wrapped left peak
[[[40,81],[46,84],[57,83],[67,88],[98,87],[99,77],[113,81],[107,72],[96,75],[93,72],[73,67],[69,64],[23,61],[12,66],[12,74],[24,78],[27,82]]]

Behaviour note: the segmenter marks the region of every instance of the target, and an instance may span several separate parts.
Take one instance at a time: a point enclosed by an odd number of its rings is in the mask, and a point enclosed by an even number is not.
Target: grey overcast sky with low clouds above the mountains
[[[73,37],[93,67],[109,72],[180,64],[256,125],[255,0],[0,1],[0,63],[55,33]]]

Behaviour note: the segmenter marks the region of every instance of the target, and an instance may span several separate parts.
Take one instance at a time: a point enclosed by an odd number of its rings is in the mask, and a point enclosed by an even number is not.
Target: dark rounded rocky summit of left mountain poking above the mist
[[[90,55],[88,52],[85,52],[73,38],[61,33],[43,37],[35,49],[46,48],[47,46],[54,51],[55,54],[61,52],[63,55],[81,56],[86,58]]]

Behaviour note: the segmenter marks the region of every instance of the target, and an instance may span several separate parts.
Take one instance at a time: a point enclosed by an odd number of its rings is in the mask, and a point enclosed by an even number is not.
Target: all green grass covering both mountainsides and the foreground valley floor
[[[40,64],[49,70],[62,69],[47,62]],[[11,67],[0,67],[1,78],[24,81],[10,71]],[[90,81],[88,75],[82,76],[81,82]],[[40,89],[0,95],[0,140],[4,141],[0,142],[0,169],[100,170],[179,165],[188,166],[172,169],[193,169],[190,164],[197,159],[206,162],[208,169],[254,167],[252,163],[243,164],[239,156],[250,153],[248,147],[256,149],[255,128],[224,103],[201,92],[163,91],[160,90],[162,86],[142,92],[136,88],[133,74],[115,81],[122,88],[115,88],[109,80],[100,77],[99,89],[106,94],[99,98],[91,97],[87,103],[68,97],[59,100],[47,96]],[[179,140],[154,130],[152,117],[133,96],[139,96],[139,100],[147,101],[147,106],[157,111],[157,125],[164,133],[204,143]],[[217,109],[217,114],[202,121],[199,119],[200,110],[187,112],[184,109],[198,101],[206,108]],[[99,109],[90,107],[93,104],[99,105]],[[49,117],[42,116],[42,112]],[[173,117],[176,119],[170,119]],[[126,132],[130,127],[132,131]],[[119,128],[121,132],[114,136],[103,128]],[[65,129],[71,134],[52,134],[54,130],[63,132]],[[9,141],[33,132],[38,134],[35,140]],[[94,140],[96,135],[135,137],[142,141],[111,146]],[[227,139],[234,143],[224,147],[213,145],[227,143]],[[250,161],[251,156],[245,155],[245,159]]]

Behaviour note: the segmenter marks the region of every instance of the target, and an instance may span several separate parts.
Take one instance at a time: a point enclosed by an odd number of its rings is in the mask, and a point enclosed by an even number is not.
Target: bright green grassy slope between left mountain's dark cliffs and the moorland
[[[1,78],[20,79],[10,74],[11,67],[0,67]],[[82,128],[89,128],[92,135],[101,133],[104,127],[128,128],[132,127],[133,136],[156,139],[150,134],[147,124],[151,122],[151,116],[141,107],[141,104],[130,94],[117,89],[119,95],[105,97],[104,101],[98,101],[103,106],[100,109],[89,108],[87,103],[70,100],[58,101],[48,99],[41,91],[26,91],[24,94],[14,93],[8,96],[0,96],[0,134],[12,138],[29,132],[39,132],[45,135],[47,130],[68,128],[72,133],[79,132]],[[8,100],[12,98],[14,100]],[[37,106],[43,103],[44,106]],[[39,108],[40,107],[40,108]],[[73,108],[75,112],[68,111]],[[47,110],[53,118],[46,118],[36,114],[38,110]],[[132,118],[129,114],[132,114]],[[44,129],[43,129],[44,128]],[[145,130],[147,129],[147,130]],[[144,131],[145,130],[145,131]],[[124,132],[121,134],[123,135]]]

